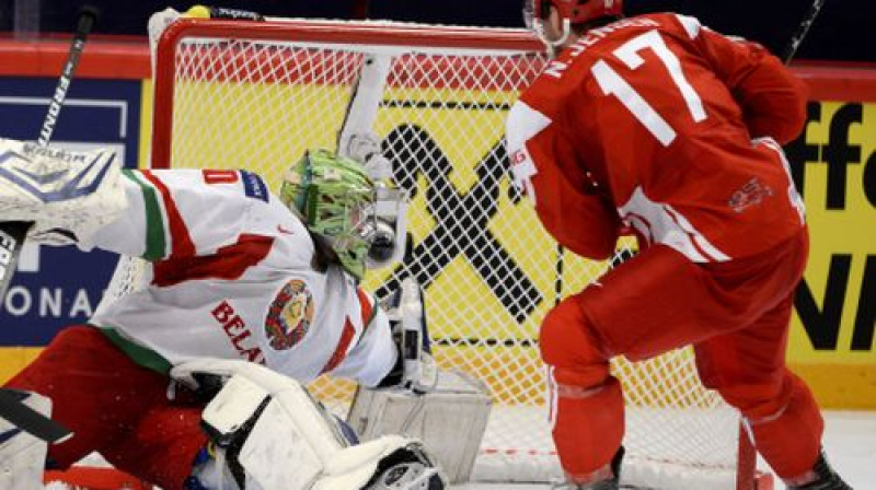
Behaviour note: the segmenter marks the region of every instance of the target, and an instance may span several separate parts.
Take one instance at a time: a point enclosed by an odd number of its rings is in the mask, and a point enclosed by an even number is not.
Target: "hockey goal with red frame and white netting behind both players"
[[[542,46],[519,30],[185,19],[155,52],[152,166],[247,168],[274,189],[306,149],[336,148],[362,63],[389,60],[369,129],[412,196],[414,249],[365,287],[382,296],[415,276],[439,364],[489,388],[474,480],[560,478],[539,324],[612,264],[558,250],[508,178],[505,117],[540,72]],[[612,262],[631,246],[622,240]],[[626,396],[624,481],[758,488],[739,415],[703,388],[690,349],[612,366]],[[343,415],[354,387],[321,378],[311,388]]]

